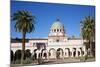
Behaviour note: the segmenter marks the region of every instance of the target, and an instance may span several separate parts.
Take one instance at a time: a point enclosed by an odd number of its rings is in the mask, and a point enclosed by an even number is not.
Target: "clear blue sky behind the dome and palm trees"
[[[28,10],[36,16],[35,31],[28,33],[26,38],[48,37],[50,27],[57,18],[64,24],[68,37],[79,37],[80,21],[85,16],[95,17],[94,6],[11,1],[11,15],[18,10]],[[11,21],[11,38],[22,38],[22,33],[16,32],[14,25]]]

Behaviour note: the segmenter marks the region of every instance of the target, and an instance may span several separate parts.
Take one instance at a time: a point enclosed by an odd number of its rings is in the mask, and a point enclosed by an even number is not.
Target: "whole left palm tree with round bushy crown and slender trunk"
[[[24,59],[25,53],[25,37],[26,33],[30,33],[35,30],[35,16],[32,16],[29,11],[19,10],[12,16],[12,20],[15,21],[15,29],[17,32],[22,33],[22,56],[21,63]]]

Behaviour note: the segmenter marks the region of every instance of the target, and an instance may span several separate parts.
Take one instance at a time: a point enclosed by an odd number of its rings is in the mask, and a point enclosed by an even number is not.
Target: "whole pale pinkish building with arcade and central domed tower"
[[[68,38],[64,25],[56,20],[50,28],[47,38],[33,38],[26,42],[26,50],[31,51],[36,59],[64,59],[85,56],[86,49],[81,38]],[[11,50],[15,53],[22,49],[22,42],[11,42]]]

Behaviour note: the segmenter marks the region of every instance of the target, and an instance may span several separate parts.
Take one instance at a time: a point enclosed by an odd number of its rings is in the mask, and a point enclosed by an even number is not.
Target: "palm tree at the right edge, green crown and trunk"
[[[82,38],[83,40],[86,40],[89,43],[90,48],[90,55],[93,56],[93,46],[92,43],[95,41],[95,20],[91,16],[85,17],[81,21],[82,26]]]

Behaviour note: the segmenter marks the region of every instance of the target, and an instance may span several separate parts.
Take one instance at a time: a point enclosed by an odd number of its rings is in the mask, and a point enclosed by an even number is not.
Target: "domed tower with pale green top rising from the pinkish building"
[[[66,33],[63,24],[59,19],[57,19],[51,26],[48,45],[64,45],[67,41]]]

